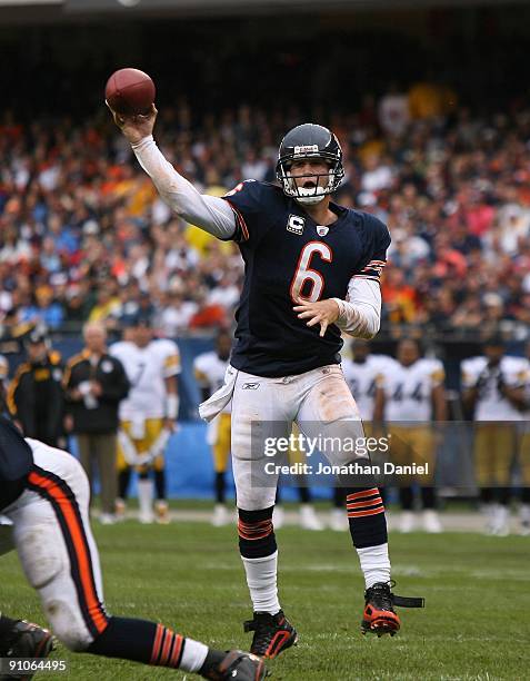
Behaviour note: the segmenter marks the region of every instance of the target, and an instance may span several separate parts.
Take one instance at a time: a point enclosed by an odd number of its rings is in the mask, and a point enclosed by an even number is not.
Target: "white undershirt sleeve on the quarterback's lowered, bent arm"
[[[339,306],[337,326],[350,336],[369,340],[381,324],[381,288],[379,282],[352,277],[346,300],[333,298]]]

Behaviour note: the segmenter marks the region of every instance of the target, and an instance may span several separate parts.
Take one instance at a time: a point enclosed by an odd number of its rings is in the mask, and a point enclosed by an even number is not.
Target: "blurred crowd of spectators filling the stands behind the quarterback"
[[[167,158],[204,193],[274,181],[291,107],[247,106],[194,120],[159,115]],[[530,109],[478,117],[447,87],[392,86],[348,116],[313,111],[344,151],[338,203],[376,214],[392,246],[383,324],[436,332],[530,322]],[[242,282],[233,244],[171,215],[104,112],[0,125],[0,320],[52,329],[139,309],[167,336],[231,323]]]

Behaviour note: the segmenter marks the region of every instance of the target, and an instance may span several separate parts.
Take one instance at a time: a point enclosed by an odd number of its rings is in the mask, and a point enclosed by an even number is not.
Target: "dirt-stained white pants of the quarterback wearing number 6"
[[[272,461],[264,452],[268,437],[289,437],[293,423],[307,437],[321,441],[349,437],[358,442],[363,437],[359,409],[337,364],[281,378],[263,378],[233,367],[229,372],[237,372],[232,462],[239,509],[257,511],[274,504],[278,475],[270,473],[270,466],[266,468]],[[337,444],[320,451],[333,465],[368,457]]]

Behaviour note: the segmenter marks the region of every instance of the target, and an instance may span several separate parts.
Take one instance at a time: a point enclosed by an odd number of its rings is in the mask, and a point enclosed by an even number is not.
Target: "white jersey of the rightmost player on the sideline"
[[[461,364],[462,388],[478,385],[474,421],[521,421],[523,412],[516,408],[499,392],[499,384],[524,387],[530,381],[530,363],[523,357],[504,356],[496,367],[488,366],[487,357],[471,357]]]

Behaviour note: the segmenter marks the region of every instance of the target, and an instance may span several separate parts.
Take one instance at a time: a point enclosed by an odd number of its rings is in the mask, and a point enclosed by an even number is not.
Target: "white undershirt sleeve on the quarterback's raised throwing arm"
[[[152,135],[131,146],[160,197],[177,215],[219,239],[233,236],[236,217],[230,205],[220,197],[200,194],[179,175],[157,147]]]

